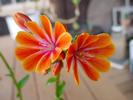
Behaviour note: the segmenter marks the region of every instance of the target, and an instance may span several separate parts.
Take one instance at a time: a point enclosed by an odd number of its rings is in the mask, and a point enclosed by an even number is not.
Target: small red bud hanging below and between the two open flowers
[[[62,61],[57,61],[53,64],[52,73],[53,75],[58,75],[63,67]]]

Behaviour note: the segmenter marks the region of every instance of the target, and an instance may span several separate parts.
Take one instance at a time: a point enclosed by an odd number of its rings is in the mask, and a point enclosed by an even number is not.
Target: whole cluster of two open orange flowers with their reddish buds
[[[16,13],[14,20],[24,30],[16,36],[19,45],[15,54],[26,71],[44,74],[50,69],[58,75],[63,68],[63,60],[66,60],[67,71],[73,65],[74,79],[79,84],[78,67],[82,67],[92,80],[98,80],[100,72],[109,70],[107,59],[115,48],[107,33],[81,33],[72,41],[63,24],[55,22],[52,29],[45,15],[40,16],[40,26],[22,13]]]

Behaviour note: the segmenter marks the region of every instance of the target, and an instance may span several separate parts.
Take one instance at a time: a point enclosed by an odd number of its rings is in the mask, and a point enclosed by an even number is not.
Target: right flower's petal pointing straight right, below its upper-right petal
[[[104,48],[89,50],[90,54],[100,55],[104,57],[111,57],[114,52],[115,52],[115,46],[113,44],[110,44],[109,46],[106,46]]]

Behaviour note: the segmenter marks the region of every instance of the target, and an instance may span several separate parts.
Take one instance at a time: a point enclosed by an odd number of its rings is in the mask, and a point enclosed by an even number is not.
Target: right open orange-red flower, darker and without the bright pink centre
[[[66,55],[67,71],[73,63],[74,79],[79,85],[78,64],[92,80],[99,79],[99,71],[106,72],[110,68],[107,58],[114,52],[111,37],[106,34],[80,34],[71,44]]]

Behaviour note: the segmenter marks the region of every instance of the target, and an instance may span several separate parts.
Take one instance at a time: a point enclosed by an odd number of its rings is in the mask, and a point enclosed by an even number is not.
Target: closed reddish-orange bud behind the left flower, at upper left
[[[13,16],[14,21],[16,22],[16,24],[23,30],[28,31],[28,28],[26,27],[25,23],[28,21],[31,21],[31,19],[20,12],[15,13],[15,15]]]

